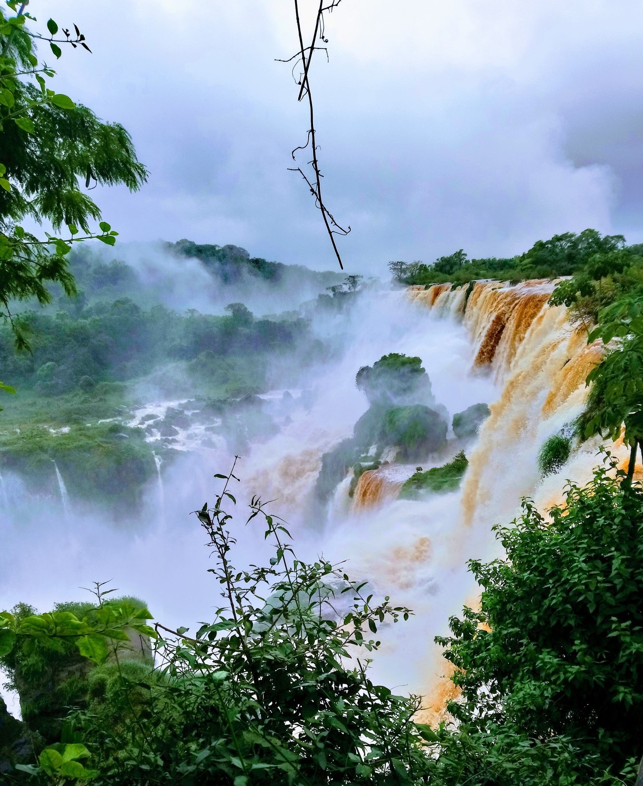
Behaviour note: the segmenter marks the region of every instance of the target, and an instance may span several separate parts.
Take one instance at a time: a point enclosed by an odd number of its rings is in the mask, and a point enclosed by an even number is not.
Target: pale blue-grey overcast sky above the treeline
[[[93,54],[64,50],[57,91],[123,123],[149,168],[140,193],[98,195],[123,240],[333,268],[287,171],[307,129],[274,61],[296,51],[292,0],[30,9],[79,25]],[[457,248],[513,255],[587,226],[643,241],[640,0],[343,0],[327,35],[311,83],[326,201],[352,227],[348,272]]]

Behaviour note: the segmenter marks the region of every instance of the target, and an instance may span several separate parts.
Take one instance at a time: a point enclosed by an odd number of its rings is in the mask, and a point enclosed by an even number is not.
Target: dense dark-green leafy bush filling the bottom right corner
[[[613,462],[609,462],[612,464]],[[643,493],[597,468],[550,521],[496,527],[480,611],[436,641],[461,691],[433,740],[440,784],[621,784],[643,740]],[[627,780],[631,778],[632,780]],[[431,780],[431,782],[434,782]]]

